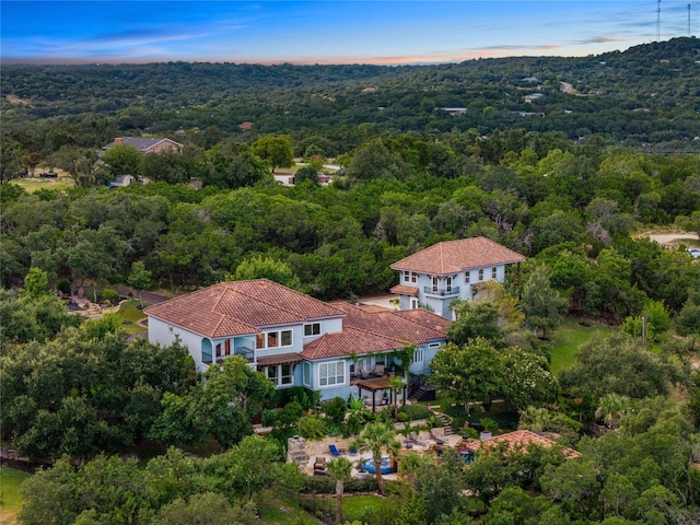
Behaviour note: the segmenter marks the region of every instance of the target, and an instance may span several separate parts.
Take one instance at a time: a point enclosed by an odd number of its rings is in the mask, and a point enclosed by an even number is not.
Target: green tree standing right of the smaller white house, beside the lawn
[[[521,295],[521,307],[527,324],[544,339],[547,332],[561,324],[568,306],[569,302],[551,287],[549,270],[545,267],[535,268],[523,285]]]

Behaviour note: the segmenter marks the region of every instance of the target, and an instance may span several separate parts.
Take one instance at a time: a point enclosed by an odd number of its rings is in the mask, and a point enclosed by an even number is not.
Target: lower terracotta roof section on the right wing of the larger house
[[[350,303],[335,306],[346,313],[342,331],[326,334],[304,347],[306,359],[388,352],[407,345],[443,339],[450,320],[424,310],[368,312]]]

